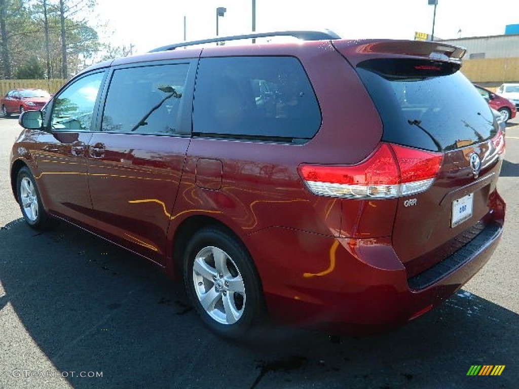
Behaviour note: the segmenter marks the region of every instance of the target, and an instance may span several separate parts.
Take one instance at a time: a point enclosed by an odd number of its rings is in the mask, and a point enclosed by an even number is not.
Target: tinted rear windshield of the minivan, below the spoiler
[[[370,60],[357,67],[384,124],[386,142],[445,151],[494,137],[488,104],[459,65],[423,60]]]

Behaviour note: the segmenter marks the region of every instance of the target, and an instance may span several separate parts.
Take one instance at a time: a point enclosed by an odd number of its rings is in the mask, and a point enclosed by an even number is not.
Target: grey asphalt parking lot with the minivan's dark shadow
[[[247,343],[208,332],[140,257],[63,224],[27,227],[8,176],[19,131],[0,118],[0,388],[519,387],[519,119],[499,181],[503,239],[455,296],[385,335],[277,327]],[[472,365],[506,367],[467,376]]]

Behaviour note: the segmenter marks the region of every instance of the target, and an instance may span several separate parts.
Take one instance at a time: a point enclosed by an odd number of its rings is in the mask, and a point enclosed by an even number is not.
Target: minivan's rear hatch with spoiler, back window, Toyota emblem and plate
[[[356,68],[377,107],[382,142],[436,156],[434,179],[409,191],[412,195],[402,192],[393,225],[395,252],[408,278],[416,276],[496,228],[489,198],[504,138],[485,100],[459,71],[465,50],[412,41],[334,45]],[[412,165],[401,155],[393,152],[400,166]],[[401,171],[402,182],[405,174]]]

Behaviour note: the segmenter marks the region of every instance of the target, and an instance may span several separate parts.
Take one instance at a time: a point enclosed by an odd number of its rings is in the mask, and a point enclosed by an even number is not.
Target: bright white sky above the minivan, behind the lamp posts
[[[252,0],[98,0],[98,24],[115,45],[133,44],[136,51],[216,33],[216,7],[226,7],[220,35],[251,31]],[[136,4],[136,3],[135,3]],[[433,6],[428,0],[256,0],[256,30],[327,28],[344,38],[413,39],[414,32],[431,33]],[[519,24],[517,0],[439,0],[435,35],[441,38],[504,33]],[[112,32],[114,33],[112,35]]]

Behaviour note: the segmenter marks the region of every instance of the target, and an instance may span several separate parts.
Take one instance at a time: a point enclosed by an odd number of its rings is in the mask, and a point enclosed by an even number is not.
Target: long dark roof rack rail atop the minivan
[[[214,43],[214,42],[222,42],[227,40],[240,40],[240,39],[254,39],[254,38],[265,38],[271,36],[293,36],[294,38],[302,39],[302,40],[330,40],[330,39],[340,39],[336,33],[330,30],[322,30],[322,31],[275,31],[275,32],[266,32],[266,33],[254,33],[254,34],[245,34],[245,35],[233,35],[233,36],[217,36],[215,38],[210,39],[201,39],[201,40],[192,40],[189,42],[175,43],[172,45],[158,47],[156,49],[150,50],[149,52],[157,52],[157,51],[168,51],[174,50],[179,47],[185,46],[193,46],[193,45],[202,45],[206,43]]]

